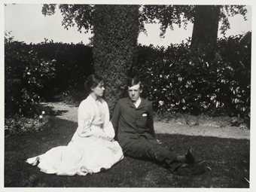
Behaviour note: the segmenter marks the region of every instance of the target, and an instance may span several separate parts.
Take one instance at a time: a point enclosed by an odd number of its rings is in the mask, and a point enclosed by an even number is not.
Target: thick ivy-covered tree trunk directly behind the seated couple
[[[136,64],[139,6],[96,5],[93,32],[94,69],[104,78],[105,99],[112,111]]]

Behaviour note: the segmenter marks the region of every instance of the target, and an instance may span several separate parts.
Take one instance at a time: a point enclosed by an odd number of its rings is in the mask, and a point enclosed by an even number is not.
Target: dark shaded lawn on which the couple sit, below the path
[[[5,187],[249,187],[249,141],[203,136],[157,135],[166,148],[184,154],[194,148],[197,158],[207,160],[212,172],[194,177],[170,174],[143,160],[125,157],[105,172],[86,176],[58,176],[40,172],[26,158],[50,148],[67,145],[77,123],[51,117],[39,133],[5,139]],[[249,178],[248,178],[249,179]]]

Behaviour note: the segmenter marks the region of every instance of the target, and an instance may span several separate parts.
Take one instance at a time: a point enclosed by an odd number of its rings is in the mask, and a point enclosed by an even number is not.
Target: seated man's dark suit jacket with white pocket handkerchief
[[[154,139],[154,122],[152,103],[142,98],[136,108],[130,98],[123,98],[117,102],[111,118],[120,145],[131,139]]]

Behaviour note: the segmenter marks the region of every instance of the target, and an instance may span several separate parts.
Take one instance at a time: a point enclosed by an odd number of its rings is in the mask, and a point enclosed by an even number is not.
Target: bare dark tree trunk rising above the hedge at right
[[[191,48],[214,55],[218,37],[220,6],[197,5]]]

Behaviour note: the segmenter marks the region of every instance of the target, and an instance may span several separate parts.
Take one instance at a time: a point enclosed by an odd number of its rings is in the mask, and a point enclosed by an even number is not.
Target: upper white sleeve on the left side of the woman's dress
[[[87,102],[81,102],[78,107],[78,136],[87,137],[93,134],[91,129],[93,114],[91,111]]]

